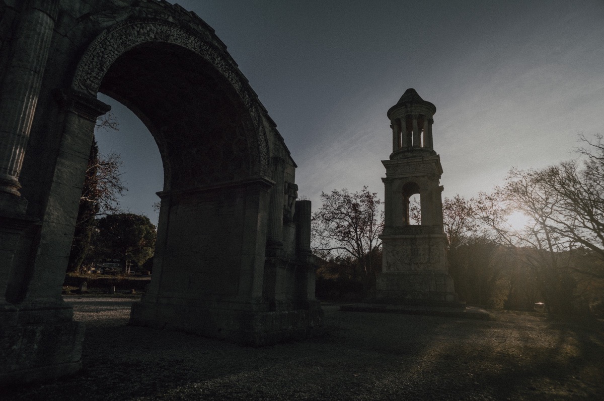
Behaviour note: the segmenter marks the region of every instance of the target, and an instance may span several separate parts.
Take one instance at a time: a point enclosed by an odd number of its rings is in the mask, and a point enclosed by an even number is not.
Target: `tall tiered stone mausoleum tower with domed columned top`
[[[392,128],[390,160],[386,168],[385,221],[381,236],[382,273],[377,277],[376,300],[423,303],[454,302],[448,273],[443,230],[440,175],[443,168],[434,151],[434,104],[407,89],[388,110]],[[420,223],[411,224],[410,198],[419,194]]]

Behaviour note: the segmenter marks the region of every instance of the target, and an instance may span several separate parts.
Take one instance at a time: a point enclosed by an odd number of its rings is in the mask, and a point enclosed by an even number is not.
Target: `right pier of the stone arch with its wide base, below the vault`
[[[233,186],[161,192],[153,276],[149,291],[132,305],[130,324],[248,346],[322,333],[312,254],[305,257],[298,250],[298,256],[291,257],[281,250],[280,257],[265,256],[269,188],[270,183],[259,178]],[[298,213],[296,218],[294,230],[310,224],[309,215]]]

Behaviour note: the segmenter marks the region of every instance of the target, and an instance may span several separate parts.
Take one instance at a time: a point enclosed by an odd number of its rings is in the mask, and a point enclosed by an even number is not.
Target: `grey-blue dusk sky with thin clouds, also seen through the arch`
[[[512,166],[576,157],[604,134],[604,2],[179,0],[216,31],[298,165],[301,197],[364,185],[384,198],[387,110],[413,87],[434,103],[444,197],[503,183]],[[163,172],[146,127],[112,104],[101,153],[124,161],[124,209],[153,222]]]

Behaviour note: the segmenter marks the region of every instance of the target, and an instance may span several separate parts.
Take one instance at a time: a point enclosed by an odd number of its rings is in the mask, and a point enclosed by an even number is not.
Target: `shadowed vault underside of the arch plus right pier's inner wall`
[[[233,87],[188,49],[146,42],[112,63],[99,92],[132,110],[158,145],[164,185],[157,228],[164,242],[156,245],[154,273],[172,292],[236,296],[239,260],[225,245],[245,236],[237,224],[245,210],[228,202],[228,183],[248,178],[257,160],[248,146],[253,127]]]

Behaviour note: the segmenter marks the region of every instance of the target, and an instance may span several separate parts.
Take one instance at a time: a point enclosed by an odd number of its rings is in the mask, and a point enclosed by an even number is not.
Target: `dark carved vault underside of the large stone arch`
[[[132,110],[153,135],[164,191],[241,180],[251,174],[251,122],[230,84],[199,55],[147,42],[115,60],[104,93]]]

